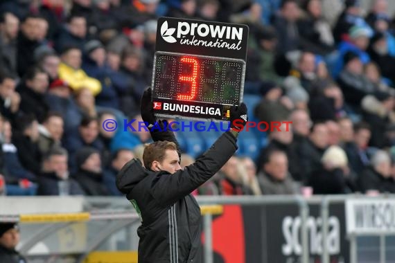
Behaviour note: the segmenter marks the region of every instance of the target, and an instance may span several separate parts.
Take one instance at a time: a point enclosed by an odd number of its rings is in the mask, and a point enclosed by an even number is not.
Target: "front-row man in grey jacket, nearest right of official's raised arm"
[[[263,169],[258,173],[262,194],[297,194],[297,183],[288,171],[288,158],[285,152],[274,149],[267,153]]]

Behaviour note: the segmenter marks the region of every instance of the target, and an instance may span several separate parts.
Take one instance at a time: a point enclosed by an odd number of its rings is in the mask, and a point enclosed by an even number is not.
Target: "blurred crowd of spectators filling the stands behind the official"
[[[395,20],[369,3],[0,0],[0,194],[121,195],[151,138],[103,122],[139,124],[161,16],[247,24],[249,118],[292,121],[193,194],[395,192]]]

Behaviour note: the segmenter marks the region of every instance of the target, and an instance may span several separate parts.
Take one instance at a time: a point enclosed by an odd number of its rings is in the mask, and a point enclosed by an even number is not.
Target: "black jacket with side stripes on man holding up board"
[[[166,134],[157,132],[152,138],[175,141]],[[237,148],[227,131],[195,163],[174,174],[146,170],[137,159],[122,168],[116,185],[142,221],[137,230],[139,263],[199,262],[201,215],[191,192],[216,174]]]

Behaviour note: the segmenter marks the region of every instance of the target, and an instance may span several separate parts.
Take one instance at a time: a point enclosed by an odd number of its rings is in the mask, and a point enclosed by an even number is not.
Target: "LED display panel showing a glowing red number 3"
[[[238,105],[244,72],[243,60],[157,52],[153,95],[172,102]]]

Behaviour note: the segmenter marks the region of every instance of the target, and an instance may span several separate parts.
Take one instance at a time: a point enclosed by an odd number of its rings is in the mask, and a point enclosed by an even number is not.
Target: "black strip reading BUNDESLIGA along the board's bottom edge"
[[[153,107],[157,116],[168,118],[196,118],[226,120],[230,116],[230,105],[213,105],[203,102],[180,102],[156,98]]]

